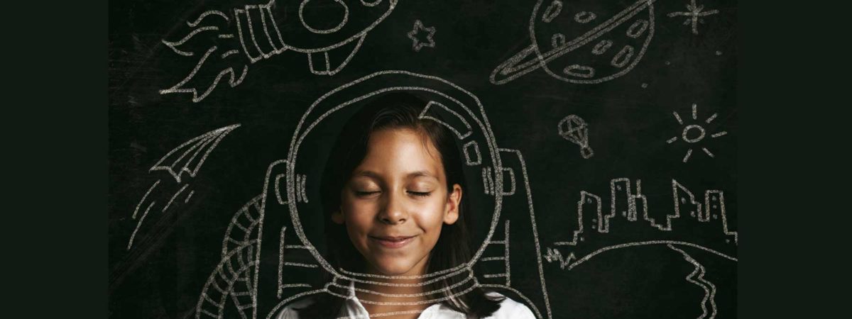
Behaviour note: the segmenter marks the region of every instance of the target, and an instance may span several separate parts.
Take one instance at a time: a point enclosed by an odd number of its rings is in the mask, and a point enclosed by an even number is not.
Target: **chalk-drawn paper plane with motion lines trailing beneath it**
[[[200,23],[200,20],[203,20],[204,18],[216,16],[218,16],[216,13],[207,13],[194,23],[198,24]],[[187,24],[189,23],[187,22]],[[204,165],[204,161],[207,160],[207,157],[210,156],[210,152],[216,149],[216,145],[219,145],[219,142],[235,128],[239,128],[239,124],[229,125],[224,128],[217,128],[205,134],[201,134],[192,140],[187,140],[183,144],[178,145],[176,148],[166,153],[164,157],[160,157],[160,159],[150,169],[148,169],[149,173],[153,173],[155,171],[168,172],[170,176],[175,179],[176,184],[165,182],[162,187],[157,189],[158,185],[163,182],[163,179],[157,179],[157,181],[155,181],[153,185],[148,187],[147,191],[145,191],[145,195],[142,196],[141,200],[136,204],[136,208],[133,210],[132,218],[136,219],[139,209],[143,206],[146,207],[141,218],[136,221],[133,233],[130,234],[130,240],[127,242],[127,250],[133,248],[136,233],[140,230],[142,222],[145,221],[148,212],[151,208],[153,208],[154,204],[156,202],[165,202],[163,208],[160,209],[163,213],[171,208],[172,205],[176,203],[176,198],[180,196],[183,191],[186,191],[187,187],[189,187],[187,179],[194,178],[195,175],[199,173],[199,169],[201,169]],[[156,192],[154,192],[155,189],[157,189]],[[154,196],[150,197],[152,192],[154,192]],[[194,193],[195,191],[190,190],[189,195],[187,195],[182,202],[189,202],[190,197],[192,197]],[[144,204],[146,202],[147,205]],[[181,201],[177,201],[177,204],[180,204],[180,202]]]

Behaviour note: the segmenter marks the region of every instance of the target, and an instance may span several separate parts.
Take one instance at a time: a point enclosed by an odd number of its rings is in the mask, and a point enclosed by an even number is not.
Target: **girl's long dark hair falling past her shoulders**
[[[343,131],[331,149],[322,176],[320,193],[328,249],[326,259],[335,269],[345,267],[347,271],[365,272],[366,260],[349,240],[346,226],[333,223],[331,214],[340,207],[340,191],[343,185],[366,156],[367,142],[372,132],[383,128],[409,128],[424,134],[440,153],[447,190],[452,191],[452,185],[458,184],[461,185],[463,194],[468,194],[465,190],[467,184],[464,182],[460,149],[452,131],[439,122],[419,118],[426,102],[402,91],[383,94],[374,99],[343,126]],[[438,242],[429,253],[427,273],[443,271],[469,262],[473,247],[473,231],[470,227],[474,224],[471,212],[469,196],[463,196],[458,206],[458,220],[452,225],[441,227]],[[487,297],[481,288],[459,293],[461,288],[458,288],[458,283],[463,280],[460,276],[446,276],[423,287],[429,291],[441,291],[445,297],[441,298],[444,299],[441,301],[443,305],[468,316],[486,317],[498,310],[502,299]],[[302,318],[333,318],[343,307],[343,302],[344,299],[323,293],[314,303],[297,311]]]

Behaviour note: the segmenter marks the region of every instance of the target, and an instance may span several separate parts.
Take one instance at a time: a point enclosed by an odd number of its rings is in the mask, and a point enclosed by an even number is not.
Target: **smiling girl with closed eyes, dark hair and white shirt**
[[[454,135],[418,118],[425,105],[385,94],[344,125],[322,180],[327,259],[371,280],[351,283],[348,299],[324,293],[288,305],[279,319],[534,318],[463,277],[429,276],[470,260],[472,216]]]

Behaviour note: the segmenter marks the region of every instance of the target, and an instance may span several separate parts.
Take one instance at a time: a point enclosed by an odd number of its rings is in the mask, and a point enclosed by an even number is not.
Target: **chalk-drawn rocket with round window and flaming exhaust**
[[[330,6],[320,0],[278,4],[276,0],[269,0],[265,4],[248,4],[227,12],[206,11],[192,19],[193,22],[187,20],[190,30],[186,36],[176,41],[162,40],[176,54],[197,58],[198,62],[180,82],[161,89],[159,94],[192,94],[193,102],[198,103],[212,93],[223,78],[227,78],[231,88],[236,87],[245,80],[249,66],[286,51],[306,54],[312,73],[333,76],[352,60],[366,34],[387,18],[397,3],[398,0],[378,0],[347,4],[335,0]],[[281,13],[287,11],[285,8],[295,9],[296,6],[297,19]],[[341,14],[331,14],[333,9],[339,9]],[[318,26],[318,23],[325,25],[329,21],[336,23],[331,27]],[[195,40],[205,36],[207,38]],[[199,41],[204,40],[210,45],[199,46]],[[211,70],[218,71],[213,81],[195,78],[199,71],[210,73]]]

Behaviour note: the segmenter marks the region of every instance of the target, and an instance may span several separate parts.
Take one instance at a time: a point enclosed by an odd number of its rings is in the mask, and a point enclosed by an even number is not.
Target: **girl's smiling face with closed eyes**
[[[423,275],[442,225],[458,219],[462,189],[446,188],[440,154],[412,129],[373,132],[364,160],[341,191],[349,239],[367,261],[367,271],[386,276]]]

